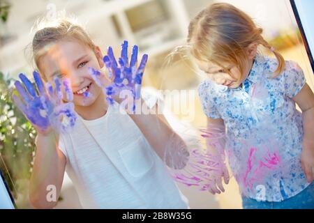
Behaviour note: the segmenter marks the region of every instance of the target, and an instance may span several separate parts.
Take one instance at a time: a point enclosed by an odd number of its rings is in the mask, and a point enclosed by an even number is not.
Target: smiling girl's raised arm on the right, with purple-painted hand
[[[96,84],[105,90],[105,94],[107,95],[106,99],[110,105],[114,104],[114,100],[119,104],[127,101],[124,101],[124,96],[121,96],[121,93],[128,93],[128,99],[132,100],[131,105],[134,105],[133,102],[137,103],[138,101],[141,105],[144,104],[140,92],[148,56],[144,54],[140,61],[140,66],[137,67],[137,52],[137,45],[134,45],[129,61],[128,41],[125,40],[121,45],[121,57],[118,62],[114,57],[112,47],[108,47],[107,55],[103,58],[108,75],[94,68],[89,68],[91,77],[95,80]],[[108,77],[110,79],[108,79]],[[121,84],[124,82],[126,83]],[[128,108],[130,109],[130,107]],[[133,109],[135,109],[135,106],[133,106]],[[140,128],[144,137],[154,148],[157,155],[164,160],[165,152],[169,153],[167,149],[170,149],[170,154],[173,155],[172,160],[176,161],[175,163],[170,163],[166,160],[166,164],[176,169],[183,168],[186,165],[185,160],[187,160],[188,157],[187,146],[181,137],[168,125],[163,115],[156,115],[154,112],[148,112],[149,114],[136,114],[135,110],[128,111],[127,109],[126,112],[128,112],[130,118],[132,118],[138,128]],[[177,165],[177,162],[179,165]]]

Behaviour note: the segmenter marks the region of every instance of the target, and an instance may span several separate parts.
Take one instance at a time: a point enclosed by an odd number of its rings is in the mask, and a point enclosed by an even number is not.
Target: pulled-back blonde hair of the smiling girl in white
[[[74,18],[60,16],[53,21],[45,19],[37,23],[38,31],[31,43],[32,59],[39,70],[40,57],[45,55],[49,48],[60,40],[78,40],[90,47],[96,47],[84,28]],[[42,75],[46,79],[45,75]]]

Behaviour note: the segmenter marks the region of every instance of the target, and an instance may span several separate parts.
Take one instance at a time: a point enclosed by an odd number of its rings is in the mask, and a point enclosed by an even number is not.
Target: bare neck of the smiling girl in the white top
[[[100,93],[95,102],[89,106],[77,106],[75,105],[75,112],[79,114],[85,120],[94,120],[100,118],[107,113],[107,103],[105,102],[105,96]]]

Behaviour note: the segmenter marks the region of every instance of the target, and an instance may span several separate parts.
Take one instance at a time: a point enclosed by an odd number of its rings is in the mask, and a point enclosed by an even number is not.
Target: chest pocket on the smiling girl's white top
[[[153,167],[154,157],[150,149],[147,141],[140,137],[119,150],[121,160],[131,176],[144,176]]]

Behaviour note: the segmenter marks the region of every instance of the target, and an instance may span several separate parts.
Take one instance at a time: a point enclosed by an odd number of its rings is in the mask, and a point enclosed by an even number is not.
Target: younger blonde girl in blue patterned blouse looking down
[[[260,45],[275,59],[257,52]],[[190,22],[188,48],[208,77],[199,86],[202,109],[209,126],[225,126],[244,208],[314,208],[314,95],[301,68],[228,3]],[[224,191],[221,178],[227,183],[229,174],[222,173],[213,194]]]

